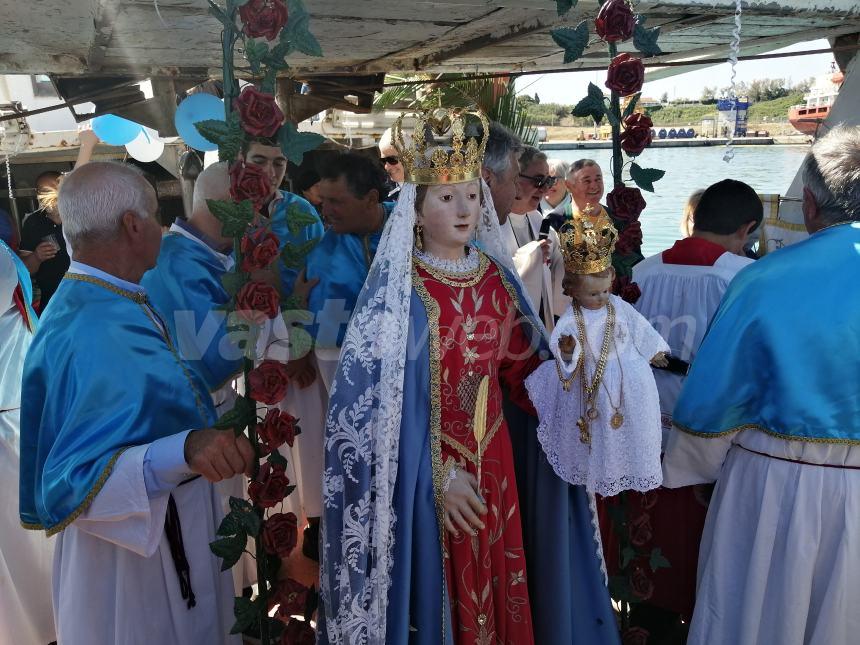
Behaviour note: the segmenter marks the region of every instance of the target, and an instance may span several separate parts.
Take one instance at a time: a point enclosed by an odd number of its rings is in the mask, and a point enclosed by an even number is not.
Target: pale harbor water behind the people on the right
[[[648,203],[640,218],[642,253],[647,257],[671,246],[680,235],[687,197],[721,179],[746,182],[761,194],[785,195],[808,150],[809,146],[742,146],[735,148],[735,158],[729,163],[723,161],[724,147],[645,150],[636,162],[643,168],[665,170],[666,175],[654,184],[655,192],[642,191]],[[571,163],[594,159],[603,169],[606,191],[612,190],[610,150],[548,150],[546,154]]]

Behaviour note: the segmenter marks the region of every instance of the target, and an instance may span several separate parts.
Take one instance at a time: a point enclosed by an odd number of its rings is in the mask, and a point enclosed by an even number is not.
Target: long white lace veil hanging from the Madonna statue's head
[[[477,245],[518,279],[483,180],[481,189]],[[323,522],[321,576],[331,643],[385,643],[415,201],[416,185],[404,184],[347,326],[331,392],[323,496],[325,514],[334,512]],[[337,396],[341,388],[348,395]],[[335,517],[340,526],[329,525]]]

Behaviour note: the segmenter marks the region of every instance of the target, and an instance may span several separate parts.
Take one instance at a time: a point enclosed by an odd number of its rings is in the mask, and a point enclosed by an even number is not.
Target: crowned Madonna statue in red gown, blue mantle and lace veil
[[[466,136],[469,117],[480,140]],[[550,354],[481,180],[489,124],[420,114],[408,145],[402,121],[406,183],[349,323],[326,422],[319,642],[528,645],[537,631],[568,634],[573,607],[536,630],[543,614],[530,602],[541,582],[528,581],[520,499],[534,491],[518,494],[504,408],[534,414],[524,381]],[[517,456],[534,471],[528,459]],[[552,512],[568,525],[566,506]],[[588,588],[593,624],[558,642],[613,643],[591,521],[574,521],[588,536],[583,562],[548,532],[532,548],[556,550],[567,578],[553,573],[532,596],[574,603]]]

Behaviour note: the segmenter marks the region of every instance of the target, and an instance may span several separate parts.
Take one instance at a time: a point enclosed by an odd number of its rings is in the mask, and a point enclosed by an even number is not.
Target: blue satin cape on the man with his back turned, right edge
[[[674,412],[679,429],[860,443],[860,223],[743,269],[714,315]]]

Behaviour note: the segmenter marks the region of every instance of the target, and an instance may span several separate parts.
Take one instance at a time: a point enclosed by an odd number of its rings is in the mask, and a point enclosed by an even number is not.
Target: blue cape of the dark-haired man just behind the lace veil
[[[383,202],[382,207],[388,219],[394,202]],[[381,237],[382,229],[367,237],[371,259],[376,255]],[[319,284],[308,297],[308,310],[314,315],[314,322],[307,330],[318,347],[343,344],[347,322],[370,270],[363,238],[363,235],[340,234],[329,229],[308,255],[306,276],[319,278]]]

